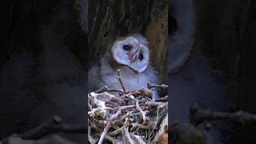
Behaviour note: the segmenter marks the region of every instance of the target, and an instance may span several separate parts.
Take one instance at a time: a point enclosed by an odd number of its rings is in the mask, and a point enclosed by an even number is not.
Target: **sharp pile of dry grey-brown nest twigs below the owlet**
[[[88,94],[90,143],[150,143],[168,109],[167,96],[152,100],[153,89],[166,85],[148,83],[140,90],[126,90],[118,70],[122,90],[107,86]]]

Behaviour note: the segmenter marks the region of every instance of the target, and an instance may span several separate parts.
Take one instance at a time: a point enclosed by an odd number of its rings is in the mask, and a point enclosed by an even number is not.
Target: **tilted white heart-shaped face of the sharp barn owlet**
[[[149,50],[134,37],[122,38],[112,46],[113,58],[122,65],[142,73],[149,64]]]

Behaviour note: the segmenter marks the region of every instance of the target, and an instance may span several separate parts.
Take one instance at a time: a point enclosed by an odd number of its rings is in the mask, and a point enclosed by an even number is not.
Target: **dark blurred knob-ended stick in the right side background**
[[[256,122],[256,114],[250,114],[242,110],[235,113],[218,112],[214,110],[199,109],[198,104],[194,103],[190,107],[190,121],[198,125],[202,122],[213,120],[227,120],[231,122]]]

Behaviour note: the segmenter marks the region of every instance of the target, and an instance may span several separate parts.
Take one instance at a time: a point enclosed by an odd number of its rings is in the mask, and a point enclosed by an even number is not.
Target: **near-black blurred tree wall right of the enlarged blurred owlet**
[[[226,72],[231,110],[256,113],[256,2],[195,0],[194,4],[198,38],[205,42],[204,50],[218,69]],[[255,143],[255,128],[254,123],[235,124],[227,132],[227,143]]]

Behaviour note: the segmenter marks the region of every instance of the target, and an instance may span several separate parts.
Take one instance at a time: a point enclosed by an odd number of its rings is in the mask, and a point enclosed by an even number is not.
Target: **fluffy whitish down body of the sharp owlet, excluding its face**
[[[138,34],[136,36],[142,37]],[[142,37],[137,39],[138,42],[145,43],[147,45],[145,38]],[[148,47],[146,47],[146,49],[147,48]],[[143,87],[146,87],[148,82],[159,83],[158,74],[154,68],[150,66],[149,62],[144,62],[146,63],[146,66],[141,66],[143,67],[142,69],[145,70],[134,70],[136,67],[133,69],[133,66],[120,64],[120,62],[114,58],[113,49],[115,49],[114,46],[112,47],[111,52],[108,51],[106,54],[104,54],[101,59],[100,66],[93,66],[90,69],[89,85],[91,90],[98,89],[102,86],[108,86],[110,89],[122,89],[122,86],[117,79],[117,70],[120,70],[122,82],[124,83],[126,90],[139,90]],[[146,56],[146,54],[144,55]],[[149,57],[149,54],[146,57]],[[153,97],[158,97],[157,92],[154,92]]]

